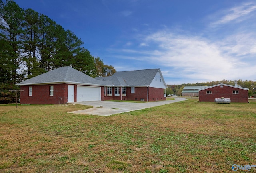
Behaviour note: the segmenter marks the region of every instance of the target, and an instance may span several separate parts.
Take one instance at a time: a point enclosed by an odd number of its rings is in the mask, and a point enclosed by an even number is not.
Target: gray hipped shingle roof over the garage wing
[[[36,85],[46,83],[81,83],[93,85],[113,85],[110,81],[101,81],[94,79],[72,67],[60,67],[47,73],[43,73],[26,81],[17,83],[17,85]]]

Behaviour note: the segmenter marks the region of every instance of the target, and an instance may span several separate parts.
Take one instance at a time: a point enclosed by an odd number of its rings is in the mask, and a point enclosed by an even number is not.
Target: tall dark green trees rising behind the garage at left
[[[0,103],[13,102],[15,83],[52,69],[71,66],[91,77],[116,72],[82,47],[74,32],[44,14],[0,0]]]

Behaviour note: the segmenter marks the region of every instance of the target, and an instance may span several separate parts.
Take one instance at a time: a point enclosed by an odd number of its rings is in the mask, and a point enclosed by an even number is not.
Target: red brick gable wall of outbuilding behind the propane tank
[[[212,94],[206,94],[206,91],[212,91]],[[233,94],[234,90],[238,90],[238,94]],[[230,98],[231,102],[248,103],[248,90],[234,88],[230,86],[215,86],[213,88],[199,91],[199,102],[214,102],[215,98]]]

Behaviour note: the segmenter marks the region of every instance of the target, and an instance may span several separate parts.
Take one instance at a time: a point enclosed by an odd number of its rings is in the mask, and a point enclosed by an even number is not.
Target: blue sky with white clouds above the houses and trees
[[[69,29],[116,71],[167,85],[256,81],[255,0],[14,0]]]

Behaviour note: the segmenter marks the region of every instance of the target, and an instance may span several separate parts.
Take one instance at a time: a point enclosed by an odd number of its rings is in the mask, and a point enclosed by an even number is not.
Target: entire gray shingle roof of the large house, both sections
[[[158,71],[160,71],[160,69],[121,71],[116,72],[110,77],[92,78],[76,69],[73,69],[72,67],[60,67],[31,79],[27,79],[26,81],[17,83],[17,85],[72,83],[96,86],[150,86]]]

